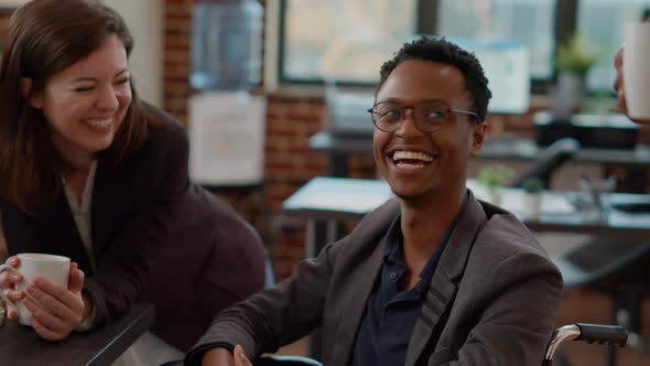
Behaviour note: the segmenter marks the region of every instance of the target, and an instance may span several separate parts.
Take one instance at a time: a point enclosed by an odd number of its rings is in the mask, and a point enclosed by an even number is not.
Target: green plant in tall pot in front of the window
[[[599,53],[586,50],[585,40],[579,34],[572,35],[568,42],[557,46],[557,83],[553,98],[555,119],[568,120],[573,111],[579,109],[586,95],[587,73],[598,57]]]

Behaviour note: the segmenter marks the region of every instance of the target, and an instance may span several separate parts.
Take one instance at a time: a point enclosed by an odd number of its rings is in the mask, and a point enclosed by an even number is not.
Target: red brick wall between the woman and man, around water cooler
[[[187,97],[192,94],[192,0],[165,0],[164,10],[163,107],[184,123]],[[303,223],[285,219],[280,213],[282,201],[310,177],[325,173],[325,157],[307,146],[308,137],[322,127],[322,112],[323,101],[318,98],[269,96],[262,192],[213,190],[258,228],[280,278],[291,273],[304,256]]]

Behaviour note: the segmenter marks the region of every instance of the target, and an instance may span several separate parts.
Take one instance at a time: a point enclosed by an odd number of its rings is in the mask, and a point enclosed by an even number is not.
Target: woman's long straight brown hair
[[[98,0],[33,0],[11,17],[0,64],[0,197],[33,212],[62,194],[63,160],[51,141],[43,111],[21,93],[21,78],[32,92],[98,50],[116,34],[127,55],[133,46],[124,20]],[[131,85],[132,103],[112,144],[101,152],[118,161],[147,139],[142,104]]]

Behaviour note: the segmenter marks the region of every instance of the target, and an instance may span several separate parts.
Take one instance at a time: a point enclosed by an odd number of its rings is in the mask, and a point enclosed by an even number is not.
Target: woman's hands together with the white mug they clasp
[[[43,338],[63,340],[87,316],[88,301],[80,293],[84,272],[69,258],[21,254],[0,266],[0,272],[8,317],[20,317]]]

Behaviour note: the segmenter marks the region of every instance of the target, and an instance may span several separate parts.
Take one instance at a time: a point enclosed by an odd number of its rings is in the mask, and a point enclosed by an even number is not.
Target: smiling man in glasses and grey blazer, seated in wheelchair
[[[404,44],[369,110],[397,197],[277,288],[221,312],[186,364],[249,365],[322,325],[325,365],[540,365],[561,276],[514,216],[465,186],[490,95],[455,44]]]

